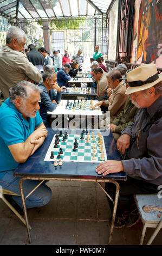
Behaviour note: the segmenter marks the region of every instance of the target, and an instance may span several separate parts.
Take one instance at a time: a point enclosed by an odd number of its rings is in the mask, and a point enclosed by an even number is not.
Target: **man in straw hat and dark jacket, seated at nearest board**
[[[126,94],[140,110],[116,143],[123,160],[108,160],[96,167],[102,175],[120,171],[127,174],[127,181],[119,181],[116,228],[132,227],[139,220],[134,194],[158,193],[162,184],[162,80],[157,66],[141,65],[127,74],[127,81]],[[111,184],[106,184],[106,190],[114,198]]]

